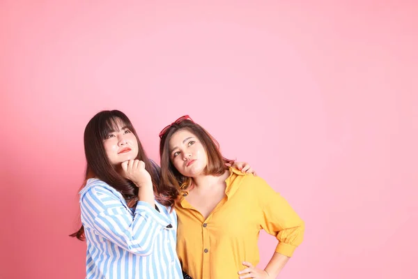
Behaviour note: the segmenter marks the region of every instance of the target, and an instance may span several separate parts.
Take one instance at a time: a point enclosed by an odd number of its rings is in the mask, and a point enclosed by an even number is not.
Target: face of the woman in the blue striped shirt
[[[117,166],[138,156],[137,137],[118,119],[116,130],[107,135],[103,141],[104,150],[111,165]]]

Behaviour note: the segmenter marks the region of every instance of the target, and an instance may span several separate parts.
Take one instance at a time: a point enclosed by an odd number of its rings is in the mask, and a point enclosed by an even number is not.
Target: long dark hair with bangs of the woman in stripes
[[[173,201],[170,199],[173,195],[171,193],[171,188],[160,186],[160,170],[155,163],[153,164],[146,156],[146,152],[139,141],[139,137],[132,126],[131,121],[123,112],[118,110],[104,110],[99,112],[87,123],[86,129],[84,130],[84,153],[86,154],[87,166],[85,181],[82,188],[86,185],[87,179],[95,177],[109,184],[109,186],[121,193],[128,206],[133,207],[137,204],[138,187],[116,171],[114,166],[111,165],[107,153],[104,150],[103,141],[109,133],[117,130],[117,121],[121,121],[123,126],[129,129],[137,138],[138,156],[136,159],[144,161],[145,169],[150,173],[155,199],[164,206],[170,206],[173,204]],[[82,188],[80,188],[80,190]],[[83,225],[77,232],[70,234],[70,236],[77,237],[79,240],[84,240],[85,235]]]

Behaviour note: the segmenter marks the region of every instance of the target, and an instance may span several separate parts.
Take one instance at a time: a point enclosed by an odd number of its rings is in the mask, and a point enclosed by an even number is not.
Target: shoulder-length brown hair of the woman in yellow
[[[208,155],[208,165],[206,165],[206,168],[204,169],[206,175],[221,176],[226,169],[228,169],[226,164],[232,164],[234,162],[233,160],[229,160],[222,156],[222,153],[219,150],[219,143],[215,140],[215,137],[212,137],[212,135],[199,124],[194,123],[189,119],[183,120],[180,123],[173,123],[164,135],[162,135],[160,140],[160,186],[164,185],[165,187],[177,189],[178,193],[180,190],[187,190],[192,186],[192,178],[180,174],[170,160],[169,142],[171,137],[178,130],[189,130],[189,132],[194,134],[203,145],[203,148]]]

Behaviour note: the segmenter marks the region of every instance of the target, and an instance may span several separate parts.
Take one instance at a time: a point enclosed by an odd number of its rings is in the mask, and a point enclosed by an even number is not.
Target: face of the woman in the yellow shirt
[[[178,130],[169,142],[170,160],[180,174],[196,177],[208,165],[208,155],[199,139],[189,130]]]

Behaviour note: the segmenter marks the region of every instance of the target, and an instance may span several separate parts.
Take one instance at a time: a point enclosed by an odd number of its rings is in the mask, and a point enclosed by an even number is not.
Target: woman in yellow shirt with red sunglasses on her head
[[[177,252],[194,279],[276,278],[302,242],[304,222],[268,183],[225,163],[217,141],[189,116],[160,133],[161,181],[178,189]],[[258,234],[279,243],[257,269]]]

